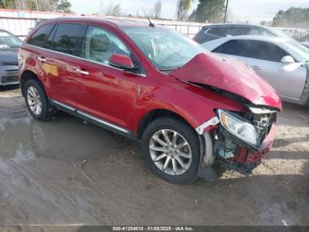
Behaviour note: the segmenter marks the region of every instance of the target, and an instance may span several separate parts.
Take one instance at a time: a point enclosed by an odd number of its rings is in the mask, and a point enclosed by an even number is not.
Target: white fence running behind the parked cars
[[[74,14],[64,14],[58,12],[36,12],[36,11],[18,11],[18,10],[8,10],[0,9],[0,28],[10,31],[12,34],[19,36],[19,38],[24,39],[29,31],[35,27],[38,21],[44,19],[52,19],[57,17],[65,16],[77,16]],[[105,18],[113,19],[115,17],[104,16]],[[143,18],[133,18],[133,17],[117,17],[117,19],[130,19],[136,21],[147,21]],[[161,25],[163,27],[170,27],[178,32],[193,37],[196,35],[200,28],[207,25],[206,23],[198,22],[185,22],[185,21],[172,21],[172,20],[156,20],[152,19],[156,25]],[[294,38],[304,37],[309,35],[309,29],[298,29],[298,28],[283,28],[278,27],[277,29],[283,31],[285,34],[290,35]],[[309,36],[308,36],[309,37]]]

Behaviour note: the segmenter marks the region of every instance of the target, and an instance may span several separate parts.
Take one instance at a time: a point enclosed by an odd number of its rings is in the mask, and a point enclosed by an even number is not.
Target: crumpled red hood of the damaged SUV
[[[282,110],[280,97],[252,68],[237,61],[200,53],[170,73],[182,81],[200,83],[244,97],[252,104]]]

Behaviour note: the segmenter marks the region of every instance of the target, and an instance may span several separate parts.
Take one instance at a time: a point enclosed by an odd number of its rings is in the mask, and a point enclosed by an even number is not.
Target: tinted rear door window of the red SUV
[[[59,24],[49,47],[66,54],[79,56],[80,43],[85,35],[85,29],[86,26],[81,24]]]

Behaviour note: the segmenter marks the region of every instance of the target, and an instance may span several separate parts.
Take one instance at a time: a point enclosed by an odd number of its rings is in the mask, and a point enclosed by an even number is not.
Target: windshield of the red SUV
[[[172,71],[184,66],[201,52],[207,52],[200,44],[174,30],[162,27],[123,27],[124,33],[161,71]]]

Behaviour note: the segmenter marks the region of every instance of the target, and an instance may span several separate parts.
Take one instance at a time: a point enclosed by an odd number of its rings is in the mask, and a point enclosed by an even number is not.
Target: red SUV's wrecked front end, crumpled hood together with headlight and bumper
[[[206,105],[215,110],[213,118],[196,128],[205,144],[201,167],[212,165],[215,158],[243,166],[259,164],[274,142],[276,113],[282,110],[280,97],[267,81],[241,62],[207,53],[195,56],[170,76],[206,89],[205,97],[208,92],[216,94],[209,96],[212,105]],[[227,103],[226,109],[218,109],[224,99],[243,107]]]

